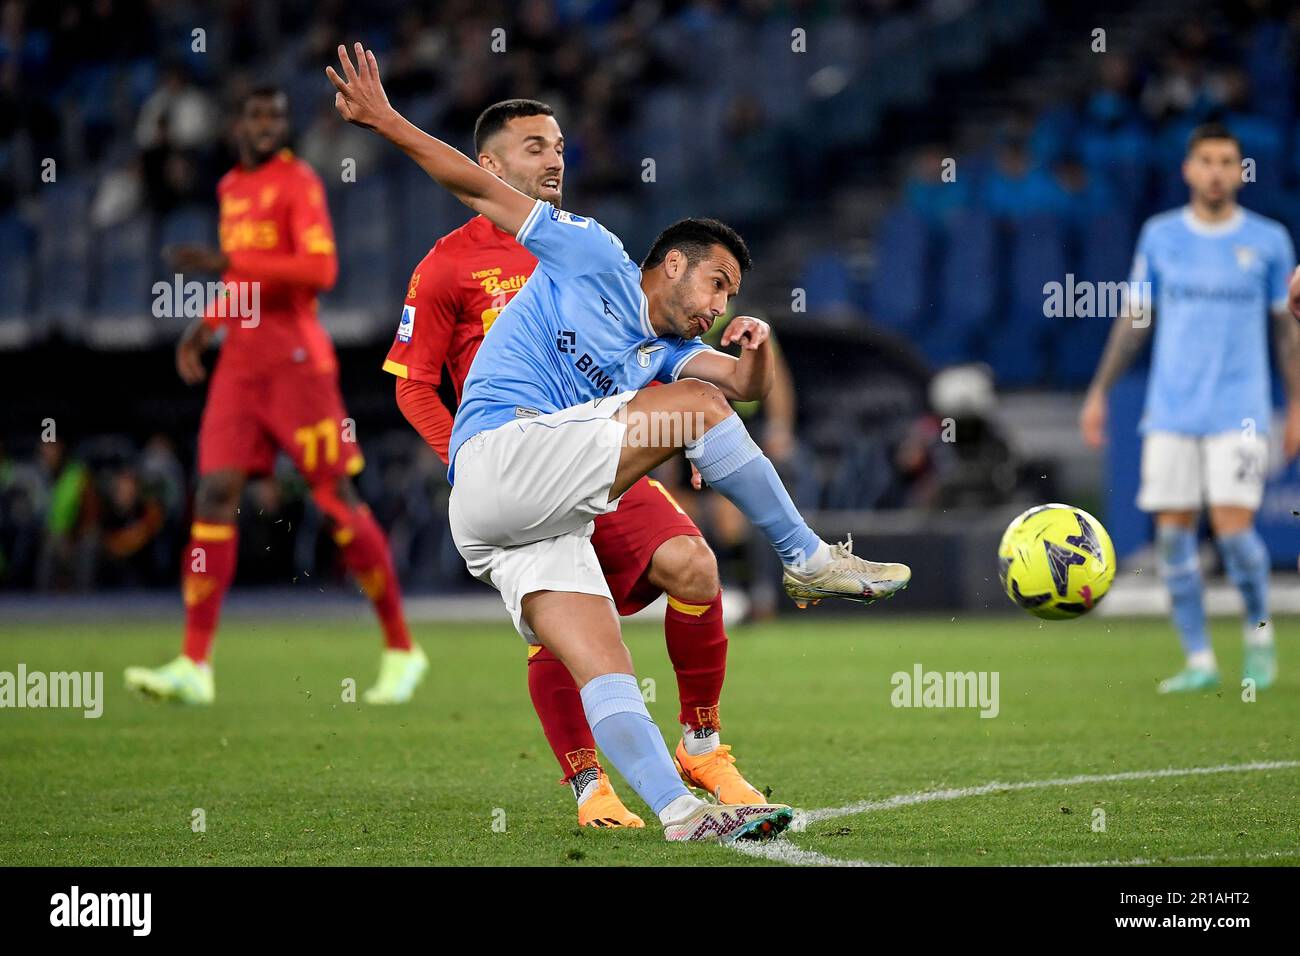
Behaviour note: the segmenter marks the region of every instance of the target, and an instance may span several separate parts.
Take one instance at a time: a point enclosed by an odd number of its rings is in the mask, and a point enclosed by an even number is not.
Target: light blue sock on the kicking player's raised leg
[[[740,415],[731,415],[686,442],[686,458],[767,535],[785,564],[800,564],[822,544],[790,501],[776,468],[749,437]]]

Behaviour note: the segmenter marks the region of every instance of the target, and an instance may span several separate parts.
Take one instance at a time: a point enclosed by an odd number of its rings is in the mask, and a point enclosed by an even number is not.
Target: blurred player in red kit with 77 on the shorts
[[[199,431],[182,654],[157,669],[129,667],[126,684],[151,697],[212,702],[209,653],[235,572],[239,496],[282,450],[309,484],[384,628],[380,679],[363,700],[400,704],[428,661],[407,632],[387,540],[350,479],[363,467],[361,453],[339,394],[334,346],[316,316],[317,293],[338,274],[334,233],[321,181],[285,148],[287,134],[281,91],[260,88],[244,99],[235,122],[239,165],[217,185],[221,251],[182,246],[172,256],[181,272],[220,273],[233,291],[186,329],[176,352],[181,377],[198,384],[207,377],[203,351],[225,328]],[[251,313],[240,310],[250,303]]]

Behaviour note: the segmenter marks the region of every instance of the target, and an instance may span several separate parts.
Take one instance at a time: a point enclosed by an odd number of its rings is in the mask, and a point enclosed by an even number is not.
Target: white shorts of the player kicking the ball
[[[529,644],[524,597],[576,591],[610,598],[592,548],[593,519],[614,511],[610,486],[625,425],[614,415],[636,392],[480,432],[456,453],[447,518],[469,574],[500,592]]]

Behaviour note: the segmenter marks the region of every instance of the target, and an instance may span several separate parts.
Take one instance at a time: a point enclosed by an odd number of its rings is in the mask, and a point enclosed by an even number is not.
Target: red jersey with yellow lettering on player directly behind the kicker
[[[534,268],[537,258],[486,216],[447,233],[411,276],[385,371],[437,386],[446,365],[460,398],[484,334]]]

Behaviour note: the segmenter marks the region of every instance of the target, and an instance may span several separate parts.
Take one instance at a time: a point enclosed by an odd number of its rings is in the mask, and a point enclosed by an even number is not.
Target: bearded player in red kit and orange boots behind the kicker
[[[534,199],[560,204],[564,137],[536,100],[489,107],[474,126],[480,165]],[[447,460],[452,415],[438,398],[443,367],[459,398],[469,364],[497,315],[537,265],[515,237],[474,216],[441,238],[416,267],[396,339],[384,368],[398,376],[402,414]],[[664,636],[677,674],[682,779],[723,803],[764,803],[720,743],[718,700],[727,667],[718,559],[694,522],[653,479],[641,479],[592,537],[620,614],[668,596]],[[578,801],[582,826],[644,826],[614,792],[597,761],[582,698],[568,670],[542,646],[529,648],[528,689],[546,740]]]

